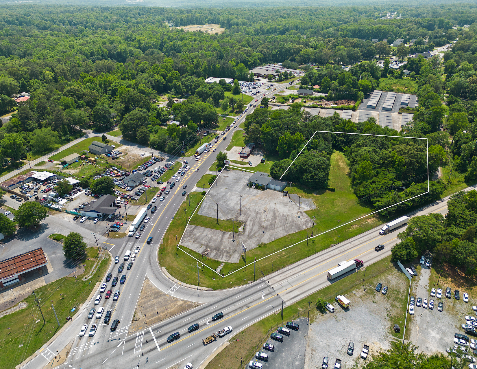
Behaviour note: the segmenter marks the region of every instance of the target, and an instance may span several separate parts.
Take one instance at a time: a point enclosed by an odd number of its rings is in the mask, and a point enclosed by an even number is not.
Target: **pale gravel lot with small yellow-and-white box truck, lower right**
[[[342,360],[342,369],[351,368],[356,362],[362,367],[369,361],[360,358],[364,344],[370,347],[368,358],[390,348],[390,341],[395,338],[389,318],[401,314],[398,299],[406,295],[407,301],[406,281],[404,273],[391,269],[367,281],[366,291],[361,287],[345,294],[351,302],[348,311],[333,303],[335,312],[321,314],[310,327],[304,368],[320,368],[324,356],[329,358],[329,368],[333,368],[336,358]],[[388,286],[386,295],[374,290],[378,282]],[[399,324],[402,329],[404,316]],[[350,341],[354,342],[353,356],[346,353]]]

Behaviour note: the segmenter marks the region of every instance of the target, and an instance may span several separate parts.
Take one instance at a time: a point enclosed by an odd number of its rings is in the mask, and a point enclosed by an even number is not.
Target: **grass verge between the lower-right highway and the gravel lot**
[[[366,274],[364,277],[364,284],[366,287],[374,286],[377,283],[378,275],[381,278],[386,274],[395,274],[396,266],[390,262],[391,257],[388,256],[383,260],[380,260],[374,264],[371,264],[366,268]],[[370,268],[372,270],[370,270]],[[403,274],[404,275],[404,274]],[[353,292],[358,286],[363,283],[363,273],[358,272],[343,278],[332,285],[329,285],[318,292],[298,301],[295,304],[287,306],[283,309],[283,320],[281,315],[272,314],[267,316],[264,319],[261,319],[259,322],[248,327],[244,331],[240,332],[238,335],[235,335],[230,339],[229,345],[220,351],[215,358],[213,358],[210,363],[207,365],[206,369],[215,369],[215,368],[230,368],[230,369],[239,369],[240,368],[240,358],[243,358],[245,363],[254,358],[255,352],[259,351],[262,344],[268,339],[270,333],[275,331],[276,328],[283,326],[287,321],[297,319],[301,316],[307,316],[308,313],[308,302],[311,301],[310,309],[310,323],[313,324],[317,318],[322,314],[316,309],[315,302],[318,298],[323,298],[330,303],[334,302],[334,297],[336,295],[348,295]],[[359,287],[358,287],[359,288]],[[373,288],[367,288],[364,295],[374,294]],[[405,296],[404,296],[405,295]],[[392,298],[391,294],[387,296]],[[405,297],[407,300],[407,294],[402,294],[399,296],[394,296],[394,300],[397,300],[397,303],[401,303]],[[403,311],[400,312],[397,316],[389,317],[390,324],[392,327],[393,324],[397,321],[401,326],[401,329],[404,327],[404,316],[406,314],[406,301],[404,304]],[[402,323],[400,323],[402,321]],[[401,334],[394,334],[397,338],[402,338]],[[356,350],[355,350],[356,352]]]

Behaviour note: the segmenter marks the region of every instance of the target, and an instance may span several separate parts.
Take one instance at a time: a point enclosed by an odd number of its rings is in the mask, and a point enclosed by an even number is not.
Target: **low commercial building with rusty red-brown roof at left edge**
[[[41,247],[0,261],[0,288],[21,282],[23,274],[34,272],[46,264],[48,260]]]

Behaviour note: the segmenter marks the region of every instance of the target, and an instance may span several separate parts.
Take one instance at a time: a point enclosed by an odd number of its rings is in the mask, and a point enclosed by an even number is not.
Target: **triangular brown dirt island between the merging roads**
[[[158,290],[149,279],[146,279],[137,301],[129,332],[144,329],[196,306],[199,304],[166,295]]]

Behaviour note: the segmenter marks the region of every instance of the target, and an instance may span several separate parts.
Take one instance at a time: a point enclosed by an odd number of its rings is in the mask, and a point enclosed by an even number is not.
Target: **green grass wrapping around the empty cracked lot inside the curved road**
[[[315,234],[324,230],[331,229],[340,224],[340,222],[350,221],[356,219],[369,212],[369,209],[357,205],[356,197],[351,190],[350,179],[346,173],[348,171],[347,162],[344,156],[335,152],[332,155],[332,170],[330,171],[330,187],[335,187],[336,192],[331,191],[312,191],[301,187],[293,187],[292,193],[298,193],[301,197],[311,198],[315,204],[319,206],[314,210],[306,211],[309,216],[316,216],[317,221],[314,226]],[[197,204],[202,199],[199,192],[190,193],[191,204]],[[195,274],[191,273],[191,270],[196,265],[193,258],[189,257],[186,253],[181,251],[176,255],[176,234],[178,237],[182,235],[186,225],[186,219],[184,215],[184,209],[187,207],[187,213],[191,214],[194,206],[188,207],[188,203],[185,202],[181,205],[176,213],[176,218],[171,222],[166,235],[164,236],[164,243],[160,246],[159,263],[165,265],[170,274],[176,277],[178,280],[191,285],[197,285],[197,279]],[[195,217],[195,216],[194,216]],[[192,220],[194,220],[192,217]],[[212,218],[213,219],[213,218]],[[195,220],[194,220],[195,222]],[[352,238],[362,232],[365,232],[381,221],[374,217],[363,219],[361,221],[354,222],[343,226],[339,230],[325,233],[314,239],[314,242],[302,242],[298,245],[287,250],[287,253],[279,253],[273,257],[260,261],[259,268],[265,275],[281,269],[287,265],[296,263],[307,256],[324,250],[330,246],[330,244],[342,242],[348,238]],[[282,248],[301,242],[306,239],[307,232],[311,234],[311,228],[300,232],[289,234],[285,237],[279,238],[273,242],[260,245],[259,247],[250,250],[247,253],[249,260],[253,260],[254,257],[260,259],[271,253],[280,251]],[[202,256],[191,250],[187,250],[187,253],[194,255],[197,259],[201,259]],[[218,261],[207,259],[205,263],[212,269],[216,269],[220,264]],[[238,264],[227,263],[222,268],[224,274],[236,271],[244,266],[243,259]],[[204,271],[205,270],[205,271]],[[247,275],[249,275],[247,277]],[[207,286],[214,289],[221,289],[226,287],[232,287],[236,285],[243,285],[248,283],[247,281],[253,280],[253,270],[247,270],[245,272],[245,279],[242,273],[236,273],[228,276],[225,279],[212,280],[212,277],[216,277],[217,274],[205,268],[203,269],[203,276],[200,278],[201,286]],[[232,284],[230,284],[232,282]]]

